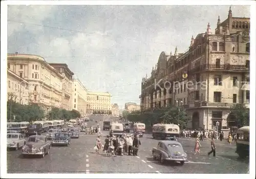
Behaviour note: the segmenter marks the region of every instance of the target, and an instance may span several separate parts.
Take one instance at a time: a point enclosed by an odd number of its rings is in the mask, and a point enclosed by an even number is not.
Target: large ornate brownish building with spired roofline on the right
[[[237,126],[230,107],[249,106],[250,18],[233,17],[210,25],[205,33],[191,38],[183,54],[162,52],[150,78],[142,78],[141,110],[168,104],[187,109],[190,128],[212,130],[216,122],[225,131]],[[174,88],[175,87],[175,88]]]

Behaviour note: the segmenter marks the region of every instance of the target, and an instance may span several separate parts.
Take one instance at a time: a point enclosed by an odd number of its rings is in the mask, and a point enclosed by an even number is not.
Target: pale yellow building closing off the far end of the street
[[[111,94],[109,92],[88,92],[87,108],[88,114],[94,111],[109,114],[111,112]]]

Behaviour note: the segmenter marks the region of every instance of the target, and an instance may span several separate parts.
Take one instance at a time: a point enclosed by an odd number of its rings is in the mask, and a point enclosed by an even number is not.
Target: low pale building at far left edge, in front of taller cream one
[[[29,104],[29,82],[11,70],[7,70],[7,93],[20,104]]]

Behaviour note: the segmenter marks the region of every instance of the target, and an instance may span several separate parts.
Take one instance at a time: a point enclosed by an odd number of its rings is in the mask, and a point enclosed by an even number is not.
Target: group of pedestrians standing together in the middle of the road
[[[97,153],[100,150],[104,152],[106,156],[116,155],[138,155],[139,146],[141,145],[138,135],[121,135],[121,136],[106,136],[104,145],[101,142],[101,135],[96,139],[96,145],[94,147]]]

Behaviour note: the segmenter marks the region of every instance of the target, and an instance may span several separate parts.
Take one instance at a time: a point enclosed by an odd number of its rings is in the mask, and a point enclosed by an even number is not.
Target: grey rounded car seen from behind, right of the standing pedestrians
[[[183,150],[181,143],[176,141],[160,141],[157,147],[152,149],[154,160],[164,162],[180,162],[181,165],[187,160],[187,154]]]

